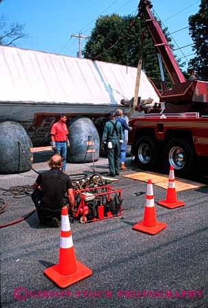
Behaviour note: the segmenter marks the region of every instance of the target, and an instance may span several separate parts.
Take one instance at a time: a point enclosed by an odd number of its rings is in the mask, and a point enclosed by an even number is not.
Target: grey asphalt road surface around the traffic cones
[[[107,159],[100,158],[95,166],[96,171],[107,171]],[[48,169],[45,162],[33,167]],[[91,163],[67,164],[68,174],[90,171]],[[0,187],[32,185],[36,177],[34,171],[0,175]],[[2,308],[208,307],[208,187],[177,193],[178,199],[186,202],[181,208],[156,205],[157,220],[168,227],[153,236],[132,230],[143,218],[146,183],[122,176],[118,179],[112,187],[122,188],[120,217],[71,224],[77,260],[92,269],[92,276],[66,289],[43,274],[45,268],[58,263],[59,229],[40,226],[36,213],[1,228]],[[165,189],[155,185],[153,189],[155,203],[165,198]],[[2,194],[0,190],[0,198],[8,204],[0,216],[1,224],[34,209],[29,196]]]

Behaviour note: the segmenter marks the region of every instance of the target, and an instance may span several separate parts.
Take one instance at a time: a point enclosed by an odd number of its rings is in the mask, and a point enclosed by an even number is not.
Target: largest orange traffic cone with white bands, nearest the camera
[[[62,288],[92,275],[92,270],[76,260],[66,206],[62,208],[59,264],[47,268],[44,274]]]

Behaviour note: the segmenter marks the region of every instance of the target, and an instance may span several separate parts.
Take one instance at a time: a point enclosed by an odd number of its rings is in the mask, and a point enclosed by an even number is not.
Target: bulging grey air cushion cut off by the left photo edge
[[[13,121],[0,123],[0,174],[17,174],[29,171],[32,165],[33,147],[21,124]]]

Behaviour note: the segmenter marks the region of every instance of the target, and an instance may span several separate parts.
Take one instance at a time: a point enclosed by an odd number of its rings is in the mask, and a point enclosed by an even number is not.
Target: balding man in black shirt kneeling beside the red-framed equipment
[[[40,223],[49,224],[52,227],[60,226],[62,206],[69,203],[71,211],[74,211],[75,198],[70,177],[60,169],[63,161],[60,155],[53,155],[49,161],[49,171],[39,174],[34,182],[32,200],[36,206]],[[68,200],[65,197],[68,195]]]

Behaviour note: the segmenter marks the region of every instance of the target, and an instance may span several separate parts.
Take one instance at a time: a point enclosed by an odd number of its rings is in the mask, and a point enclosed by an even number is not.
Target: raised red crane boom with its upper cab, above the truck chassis
[[[153,38],[155,48],[161,55],[172,80],[172,88],[164,88],[162,93],[159,93],[155,87],[160,102],[166,102],[164,112],[200,112],[200,114],[205,114],[208,111],[208,82],[185,80],[168,41],[151,12],[152,7],[150,0],[140,0],[138,5],[139,16],[144,19]]]

